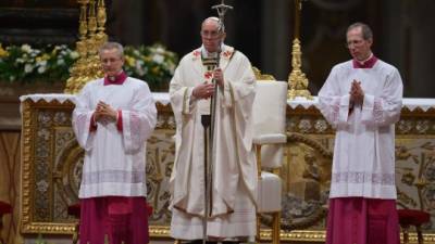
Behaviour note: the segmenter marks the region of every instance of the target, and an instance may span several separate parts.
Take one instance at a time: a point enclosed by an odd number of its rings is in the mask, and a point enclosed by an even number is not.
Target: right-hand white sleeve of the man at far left
[[[144,82],[130,110],[122,111],[123,140],[126,153],[135,153],[151,136],[157,123],[157,108],[148,85]]]

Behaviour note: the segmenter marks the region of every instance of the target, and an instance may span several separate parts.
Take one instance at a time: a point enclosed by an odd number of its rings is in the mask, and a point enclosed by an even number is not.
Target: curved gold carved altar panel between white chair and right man
[[[310,136],[287,132],[282,229],[294,231],[318,224],[326,216],[333,153]],[[307,206],[303,207],[303,206]],[[299,213],[299,214],[291,214]]]

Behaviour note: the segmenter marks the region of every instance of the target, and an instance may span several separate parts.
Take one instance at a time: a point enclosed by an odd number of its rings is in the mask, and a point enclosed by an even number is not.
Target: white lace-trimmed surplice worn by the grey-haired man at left
[[[103,79],[87,84],[73,112],[74,132],[85,149],[79,197],[146,196],[146,141],[157,121],[152,94],[146,82],[135,78],[123,85],[103,84]],[[122,131],[114,121],[98,121],[90,132],[99,101],[121,111]]]

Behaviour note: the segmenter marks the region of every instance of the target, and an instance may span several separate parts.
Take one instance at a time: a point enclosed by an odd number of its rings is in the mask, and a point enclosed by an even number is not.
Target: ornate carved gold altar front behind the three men
[[[174,117],[165,93],[153,93],[159,116],[147,146],[147,183],[153,240],[169,239],[171,213],[167,182],[174,159]],[[74,95],[34,94],[22,101],[21,232],[65,234],[71,239],[75,219],[67,205],[78,201],[83,151],[71,128]],[[334,130],[313,101],[289,101],[287,153],[283,180],[283,242],[323,242],[331,179]],[[398,207],[418,208],[435,216],[435,100],[405,100],[396,125],[396,182]],[[424,227],[426,243],[435,243],[433,223]],[[270,219],[261,232],[270,240]],[[67,235],[66,235],[67,234]],[[415,235],[411,241],[415,242]]]

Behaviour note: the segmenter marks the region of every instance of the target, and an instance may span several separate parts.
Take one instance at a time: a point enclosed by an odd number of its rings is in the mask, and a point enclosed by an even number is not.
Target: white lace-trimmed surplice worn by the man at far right
[[[353,80],[364,101],[349,113]],[[399,72],[381,60],[372,68],[355,68],[352,61],[333,67],[319,92],[320,110],[336,128],[330,197],[397,197],[394,124],[402,89]]]

